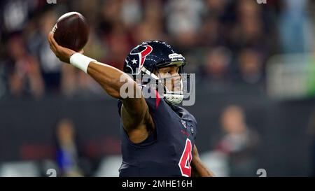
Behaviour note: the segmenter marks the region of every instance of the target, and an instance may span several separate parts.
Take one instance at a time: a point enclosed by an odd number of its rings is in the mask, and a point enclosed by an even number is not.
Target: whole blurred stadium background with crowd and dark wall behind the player
[[[197,146],[217,176],[315,175],[314,1],[4,0],[0,176],[118,176],[116,100],[46,41],[69,11],[90,22],[85,54],[118,69],[141,41],[183,53]]]

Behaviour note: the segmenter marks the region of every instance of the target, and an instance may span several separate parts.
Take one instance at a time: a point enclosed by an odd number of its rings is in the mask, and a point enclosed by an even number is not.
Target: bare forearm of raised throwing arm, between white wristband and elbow
[[[134,80],[127,76],[126,73],[120,71],[113,66],[107,64],[90,62],[87,67],[87,73],[103,87],[103,89],[111,96],[122,99],[120,96],[120,88],[125,84],[128,87],[136,88]],[[120,81],[123,77],[125,80]]]

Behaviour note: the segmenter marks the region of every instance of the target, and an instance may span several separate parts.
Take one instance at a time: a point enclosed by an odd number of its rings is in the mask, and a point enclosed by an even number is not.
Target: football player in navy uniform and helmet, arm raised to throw
[[[214,176],[198,155],[194,116],[176,105],[183,101],[186,60],[171,45],[162,41],[137,45],[120,71],[58,45],[53,34],[48,41],[62,62],[81,69],[118,99],[120,176]],[[150,80],[137,80],[145,76]],[[128,88],[123,91],[123,87]]]

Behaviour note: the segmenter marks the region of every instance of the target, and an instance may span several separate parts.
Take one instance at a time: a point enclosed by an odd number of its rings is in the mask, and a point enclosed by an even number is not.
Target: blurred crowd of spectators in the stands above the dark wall
[[[0,99],[103,94],[84,73],[62,64],[46,36],[57,18],[78,11],[90,23],[85,54],[123,69],[127,53],[167,41],[188,60],[187,73],[214,87],[264,88],[267,59],[314,48],[314,3],[268,0],[5,0],[0,2]]]

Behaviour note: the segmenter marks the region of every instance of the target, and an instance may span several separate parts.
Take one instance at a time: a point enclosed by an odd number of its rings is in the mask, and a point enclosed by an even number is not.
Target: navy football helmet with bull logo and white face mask
[[[163,41],[146,41],[137,45],[127,55],[124,64],[124,72],[134,76],[144,77],[148,75],[158,83],[161,83],[161,78],[154,74],[154,71],[171,65],[179,66],[179,75],[183,73],[183,66],[186,64],[185,57],[177,53],[171,45]],[[183,101],[183,82],[181,80],[181,91],[171,92],[162,84],[164,89],[163,97],[170,104],[180,104]]]

